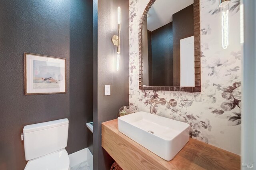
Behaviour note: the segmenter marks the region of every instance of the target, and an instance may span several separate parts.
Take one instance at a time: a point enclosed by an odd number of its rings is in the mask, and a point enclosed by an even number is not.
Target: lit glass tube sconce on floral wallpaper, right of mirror
[[[229,45],[229,12],[228,4],[230,0],[220,0],[221,25],[222,25],[222,48],[226,49]]]

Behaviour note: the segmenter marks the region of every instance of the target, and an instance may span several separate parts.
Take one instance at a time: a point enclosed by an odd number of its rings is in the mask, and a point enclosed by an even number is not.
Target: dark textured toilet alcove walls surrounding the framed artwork
[[[0,2],[0,169],[26,165],[25,125],[68,118],[68,153],[87,147],[92,121],[92,0]],[[24,95],[23,53],[67,59],[67,93]]]

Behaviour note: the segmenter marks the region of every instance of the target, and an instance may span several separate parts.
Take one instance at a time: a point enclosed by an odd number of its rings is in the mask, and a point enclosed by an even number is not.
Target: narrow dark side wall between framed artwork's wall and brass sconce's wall
[[[85,123],[93,121],[93,28],[92,0],[70,0],[69,2],[70,128],[68,150],[72,153],[88,146]]]

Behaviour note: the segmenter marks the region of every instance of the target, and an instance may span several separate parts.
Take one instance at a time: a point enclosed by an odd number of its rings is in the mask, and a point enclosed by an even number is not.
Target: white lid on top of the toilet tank
[[[49,121],[49,122],[43,122],[43,123],[36,123],[33,125],[26,125],[23,128],[23,133],[27,133],[27,132],[34,132],[37,130],[43,130],[43,129],[47,129],[47,128],[53,128],[53,127],[58,127],[58,126],[62,126],[62,125],[66,125],[68,124],[68,119],[59,119],[56,121]]]

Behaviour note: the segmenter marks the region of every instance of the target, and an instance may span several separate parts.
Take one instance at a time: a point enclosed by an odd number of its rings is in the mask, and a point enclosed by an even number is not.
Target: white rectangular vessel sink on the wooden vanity
[[[146,112],[118,117],[120,132],[167,161],[188,142],[189,126]]]

